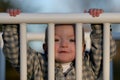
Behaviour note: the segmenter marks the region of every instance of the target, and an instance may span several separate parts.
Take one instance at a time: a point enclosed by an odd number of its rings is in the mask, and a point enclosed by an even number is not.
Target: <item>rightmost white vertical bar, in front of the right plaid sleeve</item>
[[[110,23],[104,24],[103,80],[110,80]]]

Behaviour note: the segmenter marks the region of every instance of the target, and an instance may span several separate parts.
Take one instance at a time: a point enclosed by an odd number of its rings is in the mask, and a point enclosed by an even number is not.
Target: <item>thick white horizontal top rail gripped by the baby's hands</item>
[[[120,23],[120,13],[103,13],[95,18],[88,13],[21,13],[16,17],[0,13],[0,23]]]

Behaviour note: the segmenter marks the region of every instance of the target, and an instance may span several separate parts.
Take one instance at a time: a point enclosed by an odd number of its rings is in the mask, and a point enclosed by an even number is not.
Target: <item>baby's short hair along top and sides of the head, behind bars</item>
[[[57,26],[62,26],[62,25],[72,25],[73,29],[74,29],[74,33],[75,33],[75,26],[76,24],[55,24],[55,27]],[[82,28],[83,29],[83,28]],[[82,39],[83,39],[83,44],[85,43],[85,39],[84,39],[84,29],[82,30]],[[45,31],[45,43],[48,43],[48,27],[46,28]]]

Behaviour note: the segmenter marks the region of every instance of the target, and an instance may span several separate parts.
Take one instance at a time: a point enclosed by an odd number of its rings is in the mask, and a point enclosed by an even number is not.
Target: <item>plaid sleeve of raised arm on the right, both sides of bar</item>
[[[103,25],[91,25],[91,52],[90,61],[96,76],[99,76],[103,66]],[[116,54],[116,43],[110,33],[110,59]]]

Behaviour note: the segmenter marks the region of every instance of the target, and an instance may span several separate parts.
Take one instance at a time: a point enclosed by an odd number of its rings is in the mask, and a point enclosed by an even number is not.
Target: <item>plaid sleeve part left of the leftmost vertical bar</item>
[[[19,40],[18,40],[18,25],[3,25],[3,52],[7,60],[18,71],[20,67],[19,63]]]

